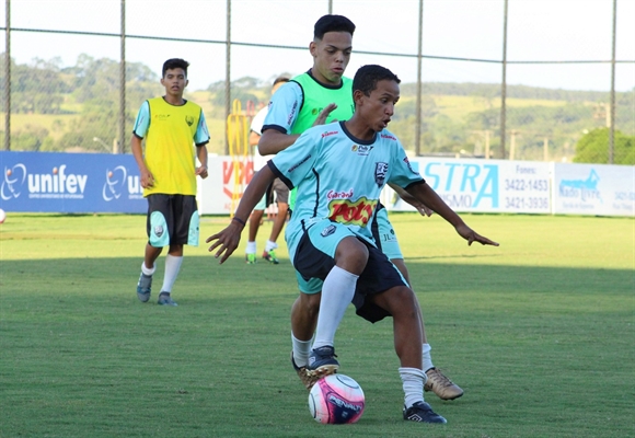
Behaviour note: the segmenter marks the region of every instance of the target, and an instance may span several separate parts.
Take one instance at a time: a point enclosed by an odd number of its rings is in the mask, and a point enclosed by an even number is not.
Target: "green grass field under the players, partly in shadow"
[[[287,254],[224,265],[186,247],[178,308],[137,300],[142,216],[10,214],[0,226],[0,437],[635,436],[635,220],[392,215],[432,359],[465,390],[427,393],[448,424],[401,418],[391,322],[346,314],[340,372],[360,422],[324,426],[289,362]],[[228,223],[203,219],[201,242]],[[258,235],[263,249],[270,223]],[[246,234],[246,233],[245,233]],[[154,288],[162,281],[160,260]]]

